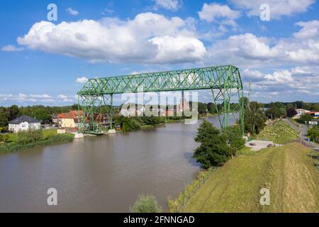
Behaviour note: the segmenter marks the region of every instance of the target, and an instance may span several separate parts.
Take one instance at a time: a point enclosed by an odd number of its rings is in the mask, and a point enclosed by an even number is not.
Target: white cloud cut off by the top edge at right
[[[270,19],[279,19],[281,16],[292,16],[304,13],[315,0],[231,0],[240,9],[247,9],[248,16],[259,16],[262,4],[269,4]]]

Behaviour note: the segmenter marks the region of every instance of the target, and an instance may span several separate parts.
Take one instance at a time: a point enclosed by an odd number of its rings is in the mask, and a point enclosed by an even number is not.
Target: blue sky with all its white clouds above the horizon
[[[65,106],[89,78],[228,64],[254,101],[319,102],[318,15],[315,0],[2,0],[0,106]]]

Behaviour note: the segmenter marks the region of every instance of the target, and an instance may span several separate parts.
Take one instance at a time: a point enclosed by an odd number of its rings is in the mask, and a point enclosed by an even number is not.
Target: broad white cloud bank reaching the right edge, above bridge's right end
[[[208,48],[208,60],[245,68],[319,64],[319,21],[299,22],[296,26],[301,30],[290,38],[272,39],[245,33],[218,40]]]

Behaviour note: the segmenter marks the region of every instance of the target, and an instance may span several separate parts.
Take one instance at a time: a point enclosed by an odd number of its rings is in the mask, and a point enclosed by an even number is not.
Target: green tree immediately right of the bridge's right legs
[[[266,120],[267,117],[256,101],[250,103],[250,109],[245,109],[245,131],[258,134],[264,128]]]

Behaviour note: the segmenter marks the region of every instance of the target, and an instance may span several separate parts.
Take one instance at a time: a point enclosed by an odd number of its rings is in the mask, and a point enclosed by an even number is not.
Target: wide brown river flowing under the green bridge
[[[217,117],[208,121],[219,126]],[[167,210],[167,197],[200,170],[192,158],[200,123],[0,154],[0,212],[128,212],[140,193]],[[47,205],[49,188],[57,189],[57,206]]]

